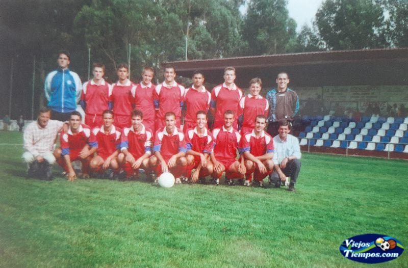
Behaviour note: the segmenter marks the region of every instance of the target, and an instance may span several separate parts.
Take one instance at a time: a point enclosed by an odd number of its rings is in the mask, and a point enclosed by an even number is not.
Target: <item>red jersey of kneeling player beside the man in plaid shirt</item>
[[[92,148],[98,147],[95,135],[87,125],[80,125],[77,133],[72,133],[71,127],[67,132],[62,131],[60,142],[62,155],[77,155],[87,144]]]

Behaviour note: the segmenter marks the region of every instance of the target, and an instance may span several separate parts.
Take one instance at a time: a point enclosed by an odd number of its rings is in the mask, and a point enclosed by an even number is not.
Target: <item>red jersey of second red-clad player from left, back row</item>
[[[111,101],[113,102],[115,116],[131,116],[132,104],[135,102],[132,97],[133,88],[136,88],[136,86],[129,79],[124,85],[119,84],[119,82],[112,85]]]

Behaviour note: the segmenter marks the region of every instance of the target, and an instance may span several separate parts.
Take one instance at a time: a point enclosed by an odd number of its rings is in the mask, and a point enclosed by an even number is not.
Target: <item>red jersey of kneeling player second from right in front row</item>
[[[214,137],[214,156],[217,160],[224,162],[237,157],[238,145],[241,141],[241,135],[237,130],[231,128],[226,130],[224,126],[213,130]]]

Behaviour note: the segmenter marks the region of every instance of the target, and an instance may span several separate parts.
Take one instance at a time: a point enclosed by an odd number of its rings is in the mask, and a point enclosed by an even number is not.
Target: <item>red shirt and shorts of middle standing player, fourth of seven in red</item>
[[[167,85],[165,82],[156,86],[153,92],[155,99],[155,109],[158,111],[156,118],[156,129],[165,126],[164,115],[167,112],[175,114],[175,125],[180,127],[182,117],[182,106],[184,101],[184,87],[177,84],[175,81],[172,85]]]

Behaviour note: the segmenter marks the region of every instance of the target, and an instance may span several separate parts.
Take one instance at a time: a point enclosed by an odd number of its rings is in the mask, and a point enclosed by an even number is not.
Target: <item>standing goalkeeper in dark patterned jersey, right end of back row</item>
[[[281,72],[276,77],[277,88],[266,94],[269,102],[268,133],[272,137],[277,135],[279,121],[293,121],[299,111],[299,98],[296,92],[288,88],[289,76]]]

